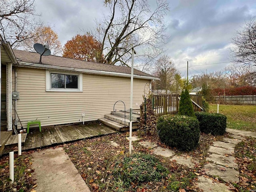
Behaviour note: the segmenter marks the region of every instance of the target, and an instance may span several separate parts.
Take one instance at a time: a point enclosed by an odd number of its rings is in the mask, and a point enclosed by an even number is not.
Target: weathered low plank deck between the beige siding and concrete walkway
[[[98,122],[90,122],[85,125],[52,126],[49,128],[31,129],[27,134],[22,150],[41,148],[65,142],[92,138],[117,132],[108,126]]]

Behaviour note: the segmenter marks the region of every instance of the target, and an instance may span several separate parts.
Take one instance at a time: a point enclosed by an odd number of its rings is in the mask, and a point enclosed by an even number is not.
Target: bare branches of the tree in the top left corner
[[[40,26],[36,22],[35,0],[1,0],[0,31],[6,42],[13,48],[20,46],[25,39],[31,38],[31,30]]]

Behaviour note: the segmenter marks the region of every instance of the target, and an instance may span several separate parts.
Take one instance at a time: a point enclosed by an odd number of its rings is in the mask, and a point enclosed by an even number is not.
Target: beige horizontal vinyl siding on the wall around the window
[[[110,114],[118,100],[126,104],[126,110],[130,108],[130,78],[83,74],[83,92],[46,92],[45,78],[43,69],[18,68],[17,111],[24,128],[28,120],[36,118],[41,120],[42,126],[78,122],[78,118],[83,119],[82,113],[85,113],[85,121],[97,120]],[[148,83],[148,90],[149,82],[134,79],[134,109],[142,103],[144,86]],[[116,109],[124,110],[124,105],[119,102]]]

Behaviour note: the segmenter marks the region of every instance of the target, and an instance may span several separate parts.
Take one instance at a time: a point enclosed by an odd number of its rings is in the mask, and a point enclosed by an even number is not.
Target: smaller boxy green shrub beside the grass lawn
[[[225,115],[206,112],[196,112],[195,114],[201,132],[213,135],[223,135],[226,132],[227,117]]]

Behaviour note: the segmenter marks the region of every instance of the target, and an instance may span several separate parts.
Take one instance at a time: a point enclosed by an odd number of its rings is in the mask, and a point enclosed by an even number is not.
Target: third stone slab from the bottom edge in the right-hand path
[[[222,166],[228,166],[235,169],[238,169],[238,165],[234,162],[236,158],[233,156],[224,156],[224,155],[218,155],[218,154],[211,154],[208,158],[206,158],[207,161],[213,161],[215,164],[220,164]]]

